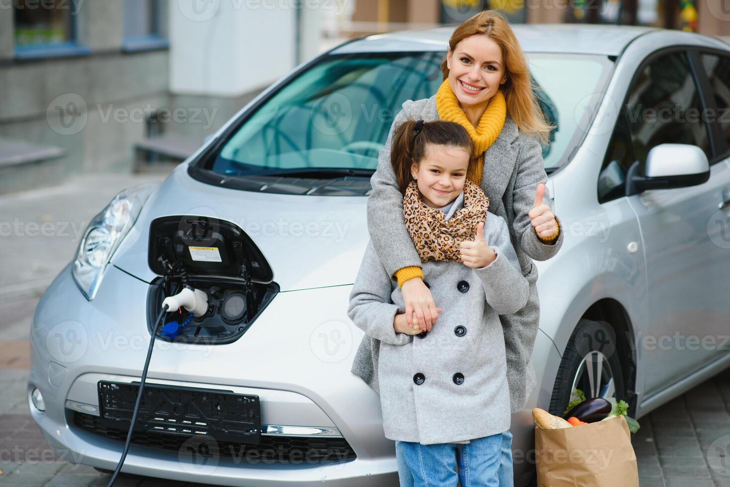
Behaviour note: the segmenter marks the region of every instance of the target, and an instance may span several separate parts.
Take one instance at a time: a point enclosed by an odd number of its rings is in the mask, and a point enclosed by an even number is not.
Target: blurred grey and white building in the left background
[[[183,160],[319,52],[317,2],[0,0],[0,194]]]

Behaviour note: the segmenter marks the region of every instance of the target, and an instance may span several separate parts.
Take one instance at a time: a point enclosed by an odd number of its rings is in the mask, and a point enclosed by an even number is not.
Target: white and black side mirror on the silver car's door
[[[646,158],[644,175],[635,161],[626,175],[626,196],[645,190],[670,190],[702,184],[710,179],[710,162],[691,144],[659,144]]]

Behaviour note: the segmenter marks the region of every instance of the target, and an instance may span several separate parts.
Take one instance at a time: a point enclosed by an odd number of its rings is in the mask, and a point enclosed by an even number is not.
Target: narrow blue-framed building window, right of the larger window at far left
[[[159,0],[124,0],[123,49],[166,47],[161,36]]]

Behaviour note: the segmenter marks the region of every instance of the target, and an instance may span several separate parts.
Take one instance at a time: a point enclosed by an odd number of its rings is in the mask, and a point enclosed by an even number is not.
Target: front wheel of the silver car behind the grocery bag
[[[563,416],[576,389],[591,397],[626,398],[623,367],[613,327],[607,322],[581,319],[568,340],[561,360],[550,413]]]

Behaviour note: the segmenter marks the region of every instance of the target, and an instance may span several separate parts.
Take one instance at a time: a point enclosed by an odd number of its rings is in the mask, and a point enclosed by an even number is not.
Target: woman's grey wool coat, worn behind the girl
[[[426,122],[439,120],[436,95],[404,102],[393,120],[385,147],[378,155],[377,171],[370,178],[372,193],[367,200],[368,231],[380,262],[393,280],[396,279],[396,270],[410,265],[422,267],[418,251],[403,221],[403,194],[391,166],[393,133],[408,117]],[[539,298],[536,286],[537,268],[532,260],[548,260],[553,257],[563,244],[565,233],[564,226],[556,217],[561,228],[560,235],[553,244],[543,244],[530,223],[528,213],[534,203],[537,184],[547,180],[539,141],[519,130],[510,114],[507,114],[499,136],[484,152],[480,187],[489,197],[488,211],[507,221],[520,268],[530,289],[527,304],[523,308],[516,313],[499,316],[507,352],[507,383],[510,386],[512,413],[525,407],[527,397],[535,386],[531,357],[539,324]],[[546,188],[543,201],[547,202],[549,197]],[[434,300],[440,308],[447,304],[435,296]],[[437,324],[438,322],[437,320]],[[378,354],[376,339],[361,340],[351,367],[352,373],[362,378],[376,392],[379,392]]]

